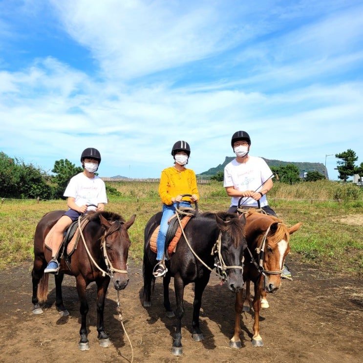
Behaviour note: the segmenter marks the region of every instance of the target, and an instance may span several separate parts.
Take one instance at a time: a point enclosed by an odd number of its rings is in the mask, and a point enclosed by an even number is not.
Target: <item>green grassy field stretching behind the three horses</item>
[[[144,227],[161,210],[158,184],[107,182],[107,210],[128,219],[137,214],[129,229],[130,258],[142,263]],[[230,204],[222,183],[199,185],[203,212],[225,211]],[[287,225],[302,222],[291,238],[291,257],[301,263],[340,273],[363,272],[363,189],[354,185],[320,181],[285,185],[275,183],[269,204]],[[33,257],[33,234],[43,214],[66,209],[66,202],[5,199],[0,205],[0,270]]]

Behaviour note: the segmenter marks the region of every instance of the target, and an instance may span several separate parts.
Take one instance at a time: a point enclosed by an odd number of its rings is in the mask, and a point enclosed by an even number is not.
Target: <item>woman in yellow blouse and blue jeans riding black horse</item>
[[[189,144],[186,141],[177,141],[171,149],[174,166],[161,172],[159,195],[163,202],[163,215],[156,240],[156,259],[159,262],[153,272],[155,277],[164,276],[168,271],[164,263],[165,237],[169,226],[168,220],[175,213],[176,203],[179,202],[180,207],[190,207],[191,202],[199,199],[195,173],[192,169],[185,168],[190,154]],[[184,197],[182,200],[182,194],[191,194],[192,196]]]

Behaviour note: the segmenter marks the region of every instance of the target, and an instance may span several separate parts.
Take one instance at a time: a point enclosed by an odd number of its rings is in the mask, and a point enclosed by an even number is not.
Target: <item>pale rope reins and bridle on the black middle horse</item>
[[[183,209],[178,209],[176,208],[175,212],[176,212],[176,217],[178,219],[178,222],[179,222],[179,226],[180,226],[180,229],[182,231],[182,234],[184,236],[184,239],[189,247],[189,249],[192,251],[192,254],[198,259],[199,262],[201,262],[209,271],[213,272],[213,269],[211,269],[197,254],[196,252],[193,250],[187,236],[185,235],[185,232],[184,232],[184,228],[181,224],[181,219],[180,219],[180,216],[179,214],[185,214],[185,215],[193,215],[192,213],[188,213],[186,212],[186,210],[188,209],[192,209],[192,208],[183,208]],[[219,231],[219,235],[218,235],[218,238],[214,244],[214,246],[212,247],[212,252],[211,252],[211,255],[215,255],[215,254],[218,254],[217,258],[218,258],[218,262],[217,263],[217,269],[218,270],[221,270],[222,272],[222,275],[218,272],[218,271],[215,271],[215,275],[221,280],[221,281],[225,281],[226,279],[226,270],[227,269],[233,269],[233,268],[239,268],[239,269],[242,269],[243,270],[243,265],[242,266],[227,266],[226,263],[224,262],[223,260],[223,257],[222,257],[222,254],[221,254],[221,245],[222,245],[222,231]],[[242,263],[243,263],[243,260],[242,260]]]

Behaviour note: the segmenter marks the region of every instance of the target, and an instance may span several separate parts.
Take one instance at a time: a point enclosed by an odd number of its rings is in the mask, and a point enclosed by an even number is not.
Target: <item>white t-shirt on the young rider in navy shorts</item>
[[[94,178],[88,178],[83,172],[73,176],[69,180],[63,195],[75,198],[74,202],[79,207],[85,204],[107,204],[106,185],[104,181],[97,175]],[[91,206],[88,208],[88,211],[95,209],[95,207]]]

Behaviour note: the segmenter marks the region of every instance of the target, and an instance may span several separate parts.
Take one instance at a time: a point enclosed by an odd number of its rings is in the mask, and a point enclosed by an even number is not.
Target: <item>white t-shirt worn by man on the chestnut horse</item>
[[[236,159],[233,159],[224,168],[224,183],[223,186],[234,187],[237,191],[254,191],[259,192],[263,189],[262,184],[273,177],[272,171],[266,162],[257,156],[249,156],[246,163],[239,164]],[[232,197],[231,206],[238,206],[240,197]],[[260,206],[266,206],[267,199],[264,195],[259,200]],[[257,201],[253,198],[242,198],[240,205],[257,207]]]

